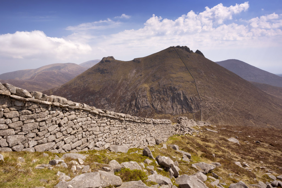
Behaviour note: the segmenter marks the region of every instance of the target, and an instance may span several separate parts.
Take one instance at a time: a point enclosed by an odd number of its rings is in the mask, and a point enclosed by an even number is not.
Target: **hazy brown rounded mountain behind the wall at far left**
[[[43,91],[58,87],[86,71],[75,63],[55,63],[36,69],[0,74],[1,83],[10,83],[28,91]]]

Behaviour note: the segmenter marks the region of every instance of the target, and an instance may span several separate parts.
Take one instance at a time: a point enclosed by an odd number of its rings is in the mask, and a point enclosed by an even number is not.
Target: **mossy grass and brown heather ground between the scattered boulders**
[[[279,138],[279,132],[271,131],[272,129],[254,129],[248,127],[228,127],[226,129],[221,129],[223,127],[208,127],[210,129],[217,129],[219,133],[208,132],[204,130],[207,127],[196,128],[200,132],[195,134],[195,136],[172,136],[165,143],[176,144],[181,150],[191,153],[191,162],[187,163],[182,161],[182,154],[176,152],[169,146],[167,149],[162,148],[162,144],[155,145],[154,147],[149,147],[153,150],[153,155],[168,156],[173,161],[177,160],[179,163],[179,168],[181,169],[180,175],[188,174],[192,175],[197,172],[197,169],[191,167],[191,164],[198,162],[219,162],[222,164],[221,167],[217,167],[213,172],[221,176],[223,180],[220,182],[225,182],[228,186],[230,183],[236,183],[240,180],[249,184],[257,184],[258,181],[270,181],[269,177],[265,175],[266,170],[260,169],[259,166],[265,166],[267,169],[275,171],[277,174],[281,175],[282,170],[282,147],[281,138]],[[240,146],[233,142],[227,141],[229,137],[238,136],[240,141]],[[248,137],[251,136],[251,137]],[[256,144],[255,141],[259,140],[262,143]],[[247,143],[249,142],[249,143]],[[138,153],[132,153],[136,152]],[[10,188],[10,187],[38,187],[44,186],[45,188],[51,188],[59,182],[59,177],[56,176],[58,171],[69,175],[71,178],[76,175],[81,174],[77,171],[73,174],[70,170],[71,164],[69,162],[72,160],[66,158],[65,162],[68,164],[68,168],[54,167],[52,170],[45,169],[35,169],[38,164],[48,164],[50,160],[55,158],[55,155],[61,157],[63,154],[54,154],[50,152],[49,156],[43,157],[43,153],[35,152],[1,152],[4,156],[4,162],[0,161],[0,187]],[[131,154],[130,154],[131,153]],[[212,157],[215,153],[216,158]],[[102,169],[103,166],[115,159],[119,163],[127,161],[136,161],[138,163],[144,162],[148,157],[142,155],[142,149],[132,148],[128,150],[128,153],[113,153],[107,150],[102,151],[88,151],[81,152],[81,154],[88,155],[84,165],[89,165],[91,171],[97,171]],[[18,162],[18,157],[23,157],[25,162]],[[175,158],[173,158],[175,157]],[[32,160],[37,159],[38,161],[32,162]],[[234,162],[239,161],[241,164],[246,162],[253,169],[252,172],[240,168],[235,165]],[[93,162],[102,163],[94,164]],[[18,166],[20,164],[20,166]],[[161,168],[154,161],[151,164],[145,164],[154,166],[156,170],[157,167]],[[21,171],[19,171],[21,170]],[[158,174],[169,177],[169,173],[166,171],[156,170]],[[228,174],[237,174],[235,176],[229,176]],[[130,171],[122,170],[116,175],[120,175],[123,181],[132,180],[142,180],[146,183],[147,175],[141,170]],[[208,173],[207,176],[211,175]],[[48,182],[41,182],[40,179],[48,180]],[[255,180],[256,179],[256,180]],[[175,184],[175,180],[171,179]],[[211,179],[208,179],[205,183],[209,187]],[[152,182],[147,182],[147,185],[153,185]]]

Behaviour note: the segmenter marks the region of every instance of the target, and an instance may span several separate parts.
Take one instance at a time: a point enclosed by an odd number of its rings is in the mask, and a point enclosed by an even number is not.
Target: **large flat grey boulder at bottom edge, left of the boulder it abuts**
[[[74,177],[71,181],[60,181],[56,188],[67,188],[71,185],[75,188],[98,188],[101,186],[99,172],[88,172]]]

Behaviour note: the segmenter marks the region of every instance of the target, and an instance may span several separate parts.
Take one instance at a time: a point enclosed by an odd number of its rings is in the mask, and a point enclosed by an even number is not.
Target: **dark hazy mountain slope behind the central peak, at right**
[[[237,59],[228,59],[225,61],[216,62],[220,66],[239,75],[241,78],[251,82],[265,83],[272,86],[282,87],[282,77],[276,74],[269,73],[248,63]]]

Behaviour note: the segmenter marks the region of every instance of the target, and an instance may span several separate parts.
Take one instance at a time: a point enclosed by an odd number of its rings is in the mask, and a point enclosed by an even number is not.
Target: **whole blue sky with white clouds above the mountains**
[[[282,73],[282,1],[0,0],[0,74],[178,45]]]

